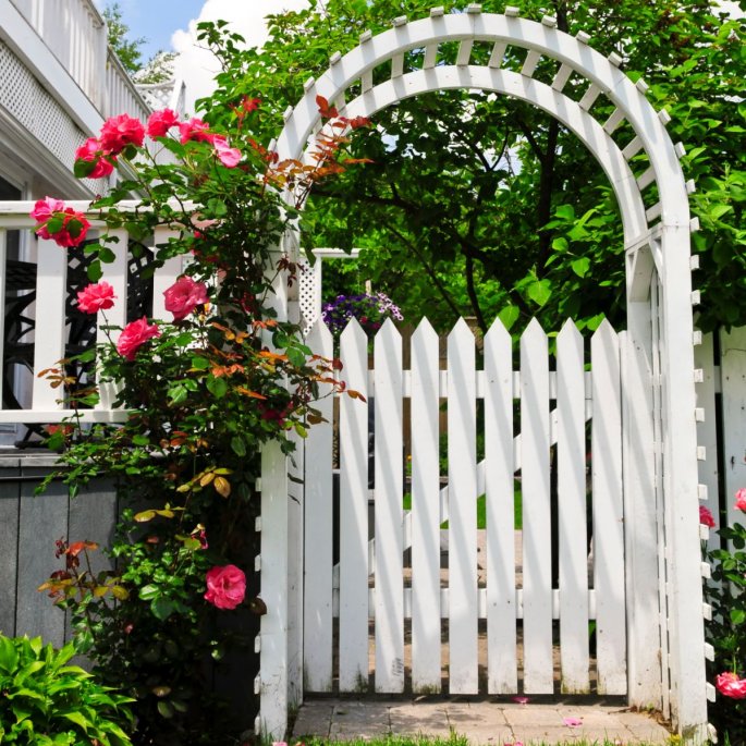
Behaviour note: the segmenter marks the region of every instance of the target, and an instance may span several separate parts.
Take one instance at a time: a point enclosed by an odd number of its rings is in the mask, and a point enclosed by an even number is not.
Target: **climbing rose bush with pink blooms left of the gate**
[[[49,430],[58,476],[74,494],[106,475],[124,505],[103,548],[111,568],[95,572],[101,549],[65,537],[57,547],[62,566],[41,589],[69,611],[76,649],[96,673],[135,699],[136,745],[196,746],[206,733],[209,743],[234,743],[246,727],[225,709],[235,693],[211,682],[225,657],[255,665],[255,614],[266,607],[248,570],[258,553],[261,450],[273,441],[292,453],[320,418],[319,382],[344,389],[334,382],[339,364],[315,355],[273,308],[277,289],[299,271],[278,248],[285,231],[313,185],[346,168],[347,132],[366,124],[339,117],[322,98],[318,105],[330,126],[310,163],[279,162],[257,142],[259,102],[244,96],[218,95],[205,119],[169,109],[146,123],[114,117],[76,154],[81,179],[119,166],[132,174],[91,203],[96,233],[56,197],[32,212],[39,236],[62,246],[86,241],[77,310],[97,314],[105,333],[96,350],[45,371],[74,413]],[[136,210],[133,194],[142,195]],[[108,266],[127,248],[150,260],[149,273],[185,259],[158,298],[170,318],[139,310],[121,327],[110,322],[113,311],[125,315],[126,299],[107,281]],[[86,424],[103,392],[123,421]],[[253,723],[255,713],[233,714]]]

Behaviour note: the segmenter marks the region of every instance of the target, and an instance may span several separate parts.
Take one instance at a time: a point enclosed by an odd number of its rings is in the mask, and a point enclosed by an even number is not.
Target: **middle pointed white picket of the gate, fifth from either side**
[[[474,334],[448,338],[449,692],[477,694],[477,452]]]

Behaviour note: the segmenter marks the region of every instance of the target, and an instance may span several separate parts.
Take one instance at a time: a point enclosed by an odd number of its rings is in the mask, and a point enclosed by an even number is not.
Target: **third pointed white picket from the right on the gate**
[[[524,690],[551,694],[552,557],[547,334],[534,319],[521,338]]]

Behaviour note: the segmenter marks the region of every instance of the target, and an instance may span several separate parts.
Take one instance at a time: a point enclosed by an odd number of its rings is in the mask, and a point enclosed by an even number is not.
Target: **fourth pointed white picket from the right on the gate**
[[[517,692],[512,343],[500,320],[485,335],[487,690]]]

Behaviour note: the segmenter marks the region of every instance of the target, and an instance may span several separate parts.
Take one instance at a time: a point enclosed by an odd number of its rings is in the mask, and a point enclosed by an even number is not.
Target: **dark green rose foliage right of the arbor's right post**
[[[714,648],[708,663],[710,680],[723,672],[746,676],[746,527],[741,523],[718,530],[723,549],[708,553],[712,578],[706,585],[706,599],[712,620],[706,625],[707,640]],[[746,699],[719,693],[710,704],[710,722],[721,737],[732,744],[746,739]]]

